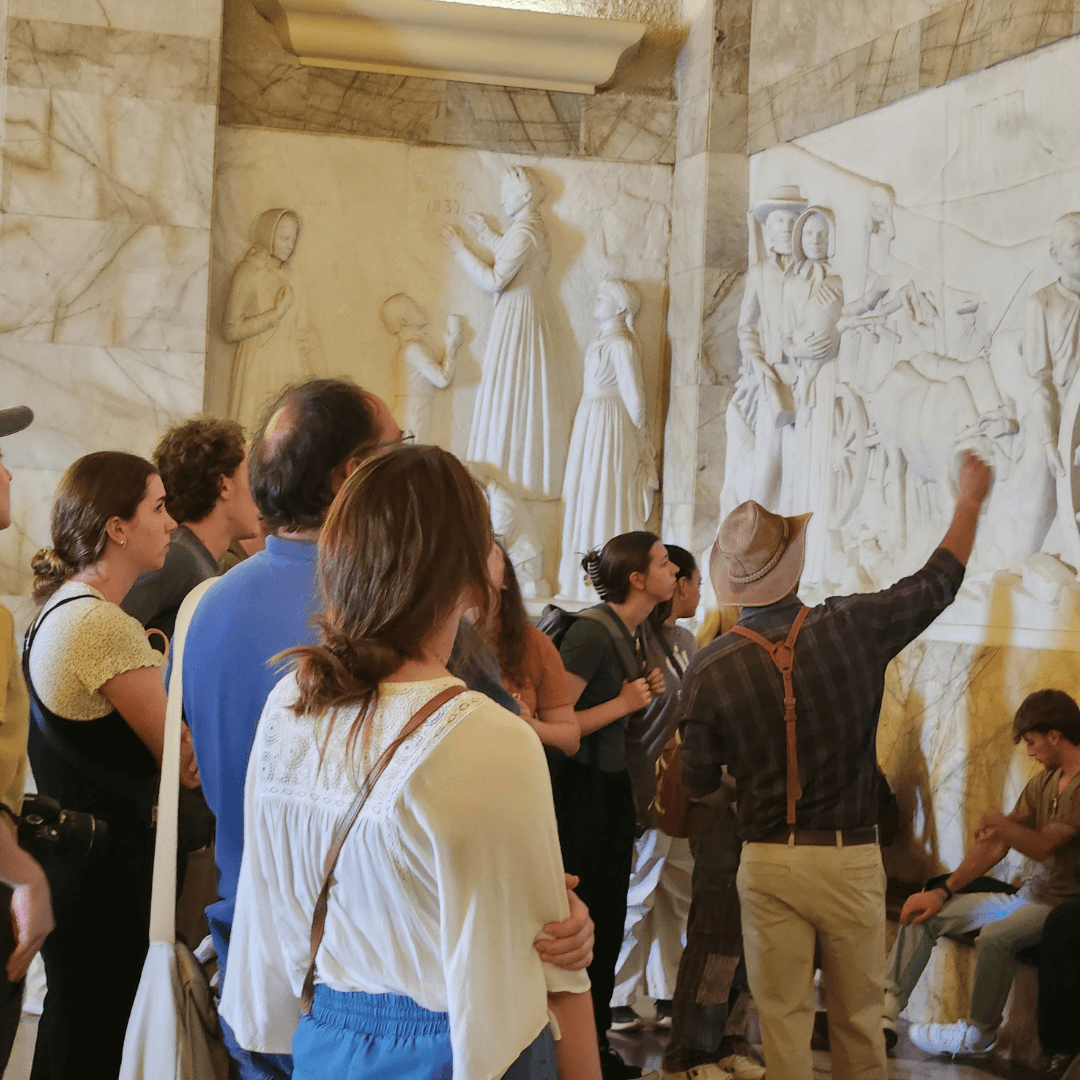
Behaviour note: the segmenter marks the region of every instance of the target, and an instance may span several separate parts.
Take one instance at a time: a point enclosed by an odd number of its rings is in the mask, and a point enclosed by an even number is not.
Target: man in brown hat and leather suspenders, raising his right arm
[[[745,502],[720,525],[711,571],[738,625],[683,684],[683,784],[738,787],[738,888],[768,1080],[811,1080],[813,954],[821,942],[833,1076],[885,1080],[885,870],[877,723],[889,661],[953,603],[990,483],[971,454],[948,532],[917,573],[813,609],[796,595],[809,514]]]

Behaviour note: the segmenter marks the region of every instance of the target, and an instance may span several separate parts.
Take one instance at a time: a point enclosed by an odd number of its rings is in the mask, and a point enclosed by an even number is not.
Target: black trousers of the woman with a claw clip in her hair
[[[568,758],[552,767],[558,840],[567,874],[577,874],[577,893],[596,923],[589,968],[593,1016],[600,1047],[611,1026],[615,970],[626,921],[626,890],[636,831],[630,774],[600,772]]]

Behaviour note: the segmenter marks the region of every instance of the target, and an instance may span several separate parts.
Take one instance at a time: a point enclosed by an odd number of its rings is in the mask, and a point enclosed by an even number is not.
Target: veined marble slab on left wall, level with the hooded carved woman
[[[208,235],[5,214],[0,340],[201,352]]]

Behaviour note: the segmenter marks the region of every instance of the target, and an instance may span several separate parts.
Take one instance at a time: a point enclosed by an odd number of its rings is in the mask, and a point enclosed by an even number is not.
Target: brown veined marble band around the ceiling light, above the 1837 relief
[[[568,13],[600,14],[593,6],[575,4]],[[588,95],[308,67],[282,48],[251,0],[226,0],[220,122],[670,164],[676,112],[672,68],[684,36],[675,4],[603,9],[605,17],[639,18],[649,30],[610,86]]]

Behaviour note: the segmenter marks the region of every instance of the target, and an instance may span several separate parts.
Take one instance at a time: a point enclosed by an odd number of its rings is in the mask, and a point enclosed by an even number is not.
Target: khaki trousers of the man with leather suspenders
[[[743,948],[769,1080],[811,1080],[814,937],[835,1080],[886,1080],[885,868],[876,843],[744,843]]]

